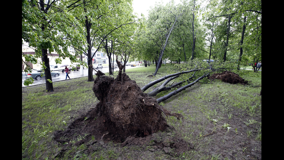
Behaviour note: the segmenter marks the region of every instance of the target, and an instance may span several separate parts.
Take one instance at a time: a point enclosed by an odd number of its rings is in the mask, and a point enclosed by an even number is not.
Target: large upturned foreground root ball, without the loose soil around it
[[[97,76],[93,91],[100,101],[92,113],[97,115],[95,127],[121,141],[128,136],[144,137],[168,127],[162,114],[169,112],[156,99],[143,93],[125,73],[116,79]]]

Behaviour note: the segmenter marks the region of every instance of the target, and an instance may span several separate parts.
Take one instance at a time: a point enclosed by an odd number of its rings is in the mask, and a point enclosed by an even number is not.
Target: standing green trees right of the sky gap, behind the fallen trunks
[[[146,27],[137,33],[136,56],[156,62],[153,75],[161,59],[181,62],[198,57],[243,64],[261,59],[261,1],[206,2],[156,4],[150,10]]]

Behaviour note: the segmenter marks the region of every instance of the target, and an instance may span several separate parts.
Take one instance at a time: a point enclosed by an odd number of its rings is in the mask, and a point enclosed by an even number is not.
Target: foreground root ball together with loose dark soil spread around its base
[[[100,102],[67,129],[54,134],[54,140],[63,147],[55,157],[65,156],[64,151],[71,145],[86,145],[86,153],[94,152],[96,145],[106,147],[110,141],[121,143],[121,146],[139,145],[142,148],[152,134],[166,130],[170,132],[163,114],[181,118],[180,114],[170,113],[155,98],[143,93],[125,73],[119,74],[116,79],[100,71],[96,75],[93,91]],[[84,139],[75,144],[68,143],[82,135],[86,135]],[[153,142],[155,148],[168,154],[172,154],[172,150],[176,150],[175,154],[182,154],[191,146],[179,138],[172,138],[171,143],[166,144],[163,143],[164,138]]]

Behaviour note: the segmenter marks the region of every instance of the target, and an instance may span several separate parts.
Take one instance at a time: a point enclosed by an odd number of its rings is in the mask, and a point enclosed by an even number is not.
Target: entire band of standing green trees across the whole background
[[[204,4],[206,4],[204,6]],[[203,5],[203,6],[202,6]],[[137,19],[132,0],[23,0],[22,45],[35,48],[26,61],[41,63],[46,89],[53,91],[48,53],[78,61],[88,58],[88,81],[93,81],[91,48],[104,49],[113,74],[114,55],[155,62],[156,75],[163,60],[181,62],[199,59],[261,59],[261,1],[184,0],[175,5],[156,4],[148,17]],[[68,52],[74,48],[75,55]],[[42,61],[36,59],[41,57]],[[82,61],[79,60],[80,63]]]

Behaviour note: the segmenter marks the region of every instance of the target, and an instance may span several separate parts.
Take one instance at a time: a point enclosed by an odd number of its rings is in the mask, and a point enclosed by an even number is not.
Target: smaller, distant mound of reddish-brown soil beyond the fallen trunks
[[[248,82],[241,78],[238,74],[230,71],[224,71],[222,73],[214,73],[208,79],[214,80],[214,79],[219,79],[222,80],[222,82],[226,83],[231,83],[231,84],[236,84],[236,83],[241,83],[241,84],[247,84]]]

